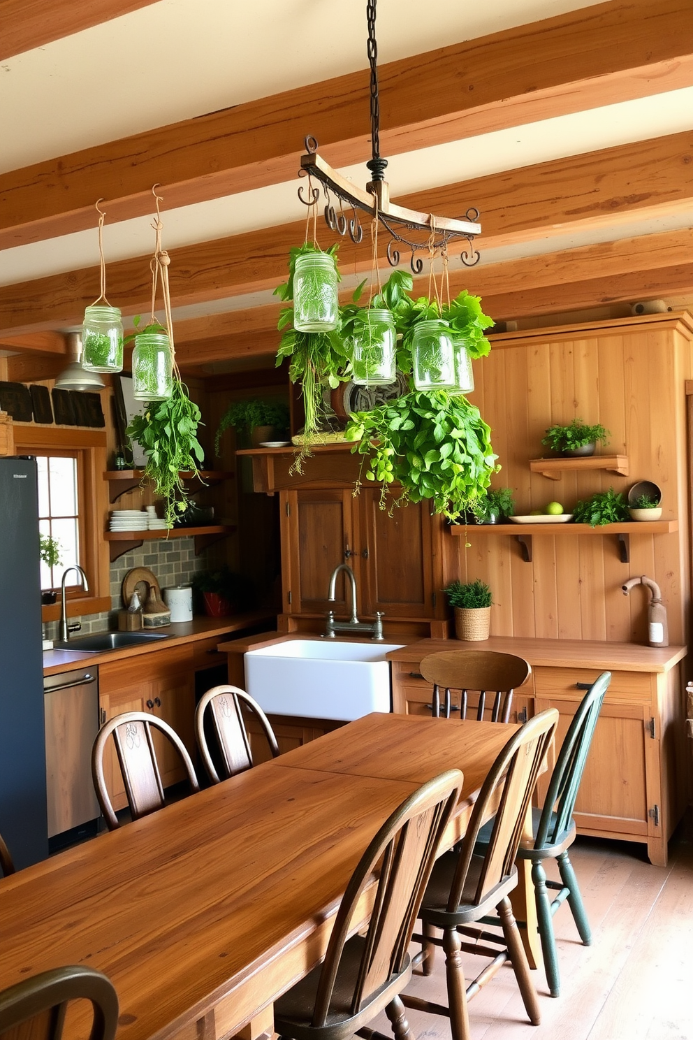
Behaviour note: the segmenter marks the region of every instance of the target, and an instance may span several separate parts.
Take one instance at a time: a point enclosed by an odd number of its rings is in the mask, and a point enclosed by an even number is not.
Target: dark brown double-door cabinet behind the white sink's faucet
[[[337,582],[337,601],[328,604],[329,578],[339,564],[348,564],[358,587],[359,616],[376,610],[388,619],[439,619],[445,605],[436,596],[434,538],[439,518],[430,504],[380,509],[378,490],[319,488],[284,491],[281,496],[284,610],[289,616],[321,616],[332,608],[350,609],[344,575]]]

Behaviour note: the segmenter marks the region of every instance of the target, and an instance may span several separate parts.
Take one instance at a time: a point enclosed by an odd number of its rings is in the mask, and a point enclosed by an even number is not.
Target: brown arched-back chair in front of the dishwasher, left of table
[[[111,733],[115,743],[115,751],[132,818],[139,820],[140,816],[156,812],[164,805],[161,774],[152,737],[153,726],[160,730],[178,751],[192,790],[199,790],[190,755],[176,730],[171,729],[162,719],[157,719],[146,711],[126,711],[124,714],[115,716],[101,727],[91,750],[94,786],[97,790],[101,811],[106,817],[108,829],[111,831],[121,826],[104,778],[104,749]]]

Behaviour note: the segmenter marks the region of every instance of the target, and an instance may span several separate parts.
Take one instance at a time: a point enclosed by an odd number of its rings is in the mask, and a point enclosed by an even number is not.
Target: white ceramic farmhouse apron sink
[[[401,643],[287,640],[245,656],[247,692],[268,713],[340,719],[390,711],[390,661]]]

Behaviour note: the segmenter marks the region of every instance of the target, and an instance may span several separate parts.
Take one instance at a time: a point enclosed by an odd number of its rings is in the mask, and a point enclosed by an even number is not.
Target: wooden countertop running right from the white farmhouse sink
[[[389,653],[388,660],[418,665],[429,653],[445,650],[498,650],[524,657],[532,668],[597,668],[610,672],[668,672],[687,647],[644,647],[637,643],[606,643],[597,640],[534,640],[491,635],[481,642],[419,640]]]

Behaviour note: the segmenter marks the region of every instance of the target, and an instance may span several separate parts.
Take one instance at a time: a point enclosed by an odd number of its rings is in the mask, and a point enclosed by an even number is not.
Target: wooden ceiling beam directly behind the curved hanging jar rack
[[[690,213],[693,210],[693,131],[570,156],[420,191],[397,200],[425,212],[464,212],[470,203],[482,212],[482,253],[495,246],[609,227],[634,219]],[[244,295],[273,288],[287,277],[287,257],[301,241],[303,220],[246,232],[230,238],[170,250],[174,306]],[[323,244],[334,240],[324,226]],[[341,248],[344,270],[368,271],[370,243]],[[387,269],[387,261],[382,261]],[[484,270],[483,266],[479,270]],[[452,254],[455,284],[474,284],[474,268],[460,268]],[[109,265],[108,289],[126,314],[146,313],[151,298],[149,257]],[[69,328],[82,320],[84,307],[99,291],[99,268],[53,275],[0,288],[0,337],[41,329]],[[236,312],[234,312],[236,313]],[[207,339],[195,319],[194,338]],[[178,328],[178,326],[177,326]]]

